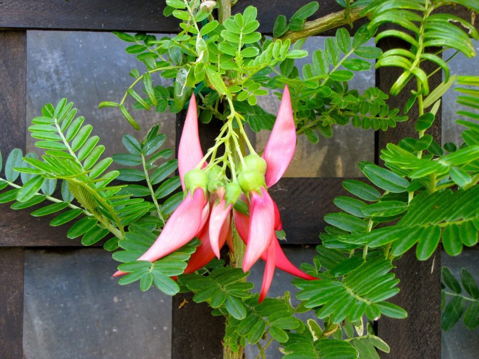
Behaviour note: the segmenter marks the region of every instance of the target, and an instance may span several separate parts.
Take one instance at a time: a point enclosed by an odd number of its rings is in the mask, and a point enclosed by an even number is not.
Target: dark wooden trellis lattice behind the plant
[[[258,8],[260,31],[270,32],[279,13],[290,17],[309,0],[241,0],[233,12],[247,5]],[[332,0],[320,2],[317,16],[323,16],[340,7]],[[26,138],[26,36],[27,30],[80,30],[128,31],[171,33],[179,30],[177,19],[162,15],[163,0],[3,0],[0,2],[0,150],[4,156],[13,148],[25,150]],[[271,11],[274,8],[274,11]],[[331,35],[334,31],[323,33]],[[399,42],[381,42],[383,49],[400,46]],[[391,68],[380,69],[376,85],[388,91],[398,75]],[[441,75],[431,78],[434,85]],[[433,86],[434,86],[433,85]],[[432,86],[432,87],[433,87]],[[408,91],[394,98],[391,106],[402,107]],[[433,129],[440,139],[440,114]],[[410,113],[412,119],[417,112]],[[177,129],[182,116],[177,118]],[[213,125],[214,126],[214,125]],[[204,127],[202,141],[215,136],[215,129]],[[180,131],[177,131],[177,136]],[[399,123],[395,129],[375,136],[375,161],[378,151],[387,142],[397,143],[404,136],[414,135],[414,122]],[[275,191],[288,242],[314,244],[324,227],[322,217],[334,211],[334,196],[344,194],[341,178],[284,178],[279,182],[281,191]],[[306,208],[306,210],[305,210]],[[0,359],[22,358],[23,330],[23,271],[25,247],[81,247],[79,240],[66,237],[68,226],[50,227],[50,218],[34,218],[29,210],[13,211],[7,204],[0,205]],[[406,320],[382,318],[378,335],[391,346],[390,359],[439,359],[440,331],[440,255],[419,262],[414,253],[406,254],[396,270],[401,279],[401,292],[393,302],[404,307]],[[173,300],[172,358],[222,358],[221,339],[224,335],[223,319],[210,315],[206,305],[191,305],[178,309],[185,295]],[[190,298],[189,298],[190,299]],[[141,358],[139,358],[141,359]]]

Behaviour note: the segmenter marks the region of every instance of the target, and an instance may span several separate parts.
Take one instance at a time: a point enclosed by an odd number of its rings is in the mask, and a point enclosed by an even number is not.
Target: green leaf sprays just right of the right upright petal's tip
[[[346,29],[339,28],[335,37],[326,39],[324,49],[313,52],[312,63],[305,64],[301,74],[293,59],[285,59],[279,66],[280,76],[264,80],[266,87],[288,85],[297,132],[310,142],[317,143],[318,135],[331,137],[334,125],[351,122],[358,128],[386,131],[408,119],[399,109],[389,108],[385,102],[389,96],[378,88],[360,94],[348,87],[355,72],[369,70],[370,61],[382,54],[381,49],[366,45],[373,34],[365,25],[351,39]]]

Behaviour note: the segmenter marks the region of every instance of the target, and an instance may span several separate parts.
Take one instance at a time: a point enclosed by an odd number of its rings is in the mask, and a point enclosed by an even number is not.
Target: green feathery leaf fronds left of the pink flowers
[[[50,202],[31,214],[59,213],[50,222],[53,226],[82,216],[71,226],[67,236],[81,237],[82,244],[92,245],[112,234],[104,247],[107,250],[121,247],[123,250],[114,252],[113,258],[125,262],[120,268],[130,272],[120,284],[140,280],[141,290],[155,284],[167,294],[177,293],[180,287],[170,277],[183,273],[198,241],[155,264],[136,262],[158,237],[165,219],[182,197],[182,193],[170,195],[180,186],[180,181],[178,176],[170,178],[178,164],[176,160],[166,161],[173,150],[161,149],[165,135],[159,132],[159,125],[153,126],[141,142],[125,135],[122,141],[129,153],[100,160],[105,147],[98,145],[98,136],[90,136],[92,126],[84,125],[83,117],[75,118],[76,112],[73,103],[66,99],[60,100],[55,107],[43,106],[42,116],[33,118],[33,125],[28,130],[37,139],[36,147],[44,149],[45,154],[41,159],[33,153],[23,157],[21,150],[14,149],[8,155],[0,190],[7,186],[13,188],[0,193],[0,203],[13,202],[12,209],[23,209]],[[107,172],[113,161],[142,169]],[[0,170],[1,167],[0,154]],[[62,181],[60,193],[56,191],[57,180]],[[146,185],[112,185],[113,180],[142,180]]]

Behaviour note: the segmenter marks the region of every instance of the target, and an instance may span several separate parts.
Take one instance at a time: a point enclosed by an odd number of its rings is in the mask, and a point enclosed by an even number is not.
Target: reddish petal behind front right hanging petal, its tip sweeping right
[[[241,239],[244,243],[247,244],[248,242],[248,231],[249,231],[249,217],[245,214],[242,214],[236,210],[233,210],[233,216],[235,219],[235,226],[238,234],[240,235]],[[281,249],[281,245],[277,238],[273,238],[274,245],[275,245],[275,266],[282,271],[292,274],[296,277],[313,280],[317,279],[315,277],[310,276],[309,274],[304,273],[302,270],[296,268],[294,264],[292,264],[289,259],[284,254],[283,250]],[[263,261],[266,260],[266,253],[261,254],[261,259]]]

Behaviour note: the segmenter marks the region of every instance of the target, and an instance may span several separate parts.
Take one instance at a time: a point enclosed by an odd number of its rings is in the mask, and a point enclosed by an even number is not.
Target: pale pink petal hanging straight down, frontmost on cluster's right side
[[[249,193],[251,197],[249,236],[242,265],[244,272],[247,272],[266,251],[274,235],[273,200],[264,187],[261,187],[261,194],[255,191]]]

